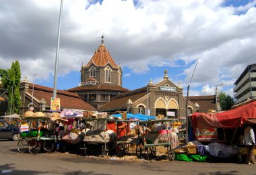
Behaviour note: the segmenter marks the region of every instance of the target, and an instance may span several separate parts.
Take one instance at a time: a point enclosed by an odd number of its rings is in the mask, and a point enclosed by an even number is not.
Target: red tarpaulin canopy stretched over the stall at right
[[[223,113],[192,115],[192,126],[197,128],[236,128],[244,123],[256,124],[256,101]]]

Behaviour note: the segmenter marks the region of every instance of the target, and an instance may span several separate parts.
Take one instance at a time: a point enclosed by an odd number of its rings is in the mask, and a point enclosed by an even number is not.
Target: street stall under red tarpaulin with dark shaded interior
[[[197,154],[206,149],[213,158],[236,156],[232,160],[243,162],[245,125],[256,129],[256,101],[222,113],[193,113],[189,121],[189,141],[198,141]]]

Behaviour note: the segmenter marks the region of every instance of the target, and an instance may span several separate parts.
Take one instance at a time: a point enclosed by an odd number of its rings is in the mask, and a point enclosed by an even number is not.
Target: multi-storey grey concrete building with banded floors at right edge
[[[234,82],[234,103],[238,104],[248,98],[256,97],[256,64],[251,64],[245,68],[243,73]]]

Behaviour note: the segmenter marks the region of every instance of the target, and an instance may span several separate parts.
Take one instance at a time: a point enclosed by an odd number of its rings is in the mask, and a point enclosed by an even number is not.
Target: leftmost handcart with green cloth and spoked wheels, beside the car
[[[40,150],[53,152],[56,137],[53,131],[43,131],[42,122],[52,127],[49,117],[21,117],[18,152],[29,151],[30,154],[38,154]]]

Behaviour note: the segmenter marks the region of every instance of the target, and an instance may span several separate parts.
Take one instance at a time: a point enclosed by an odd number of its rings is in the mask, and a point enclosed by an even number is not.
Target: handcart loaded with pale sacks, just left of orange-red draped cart
[[[114,131],[108,130],[110,129],[108,125],[115,125],[113,119],[86,118],[84,121],[86,127],[86,135],[84,137],[85,154],[90,150],[100,150],[102,156],[107,156],[111,150],[115,150],[117,135]],[[112,132],[110,133],[109,131]]]

